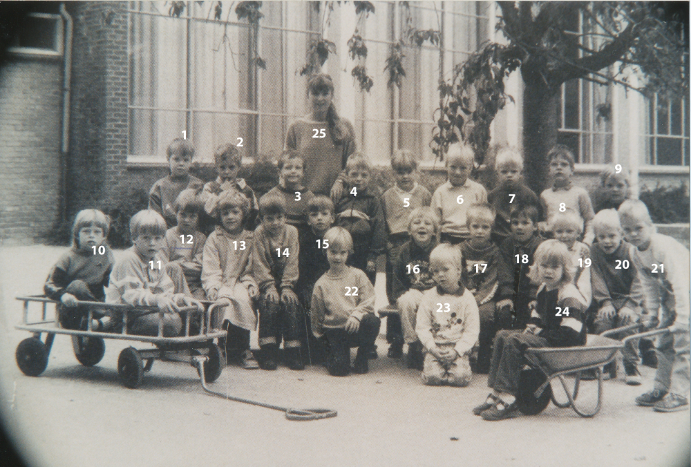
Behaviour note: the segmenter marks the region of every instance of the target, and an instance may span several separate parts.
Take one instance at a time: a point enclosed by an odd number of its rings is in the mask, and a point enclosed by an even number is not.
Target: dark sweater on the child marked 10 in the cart
[[[44,285],[44,293],[48,298],[59,300],[65,293],[65,287],[70,285],[73,280],[83,280],[91,291],[91,294],[98,300],[104,300],[106,296],[105,287],[108,286],[108,276],[115,264],[113,251],[108,245],[105,254],[94,254],[92,251],[82,251],[75,247],[70,248],[57,263],[50,269],[50,274]]]

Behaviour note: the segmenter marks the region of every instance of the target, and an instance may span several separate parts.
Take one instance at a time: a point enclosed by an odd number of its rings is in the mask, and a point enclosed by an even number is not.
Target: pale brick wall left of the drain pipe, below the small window
[[[60,59],[0,67],[0,243],[45,238],[59,216]]]

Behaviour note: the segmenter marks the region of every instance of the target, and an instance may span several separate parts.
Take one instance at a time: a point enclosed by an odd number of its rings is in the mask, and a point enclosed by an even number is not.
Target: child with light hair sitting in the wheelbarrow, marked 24
[[[486,401],[473,409],[485,420],[518,416],[520,372],[528,347],[571,347],[585,344],[583,319],[587,304],[573,283],[574,265],[566,245],[546,240],[535,252],[529,278],[540,283],[531,318],[524,332],[504,330],[494,339]]]

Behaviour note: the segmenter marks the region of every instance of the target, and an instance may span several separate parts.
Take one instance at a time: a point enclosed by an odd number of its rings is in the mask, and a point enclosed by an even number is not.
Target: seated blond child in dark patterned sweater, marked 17
[[[460,245],[463,256],[463,283],[475,296],[480,312],[480,337],[475,372],[489,372],[492,339],[496,327],[511,324],[511,276],[497,245],[490,240],[494,212],[489,204],[468,208],[467,222],[471,238]]]

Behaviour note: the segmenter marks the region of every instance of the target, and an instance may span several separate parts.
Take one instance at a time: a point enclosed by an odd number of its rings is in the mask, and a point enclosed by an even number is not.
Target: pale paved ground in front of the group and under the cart
[[[680,457],[689,465],[690,412],[660,414],[633,404],[650,388],[648,368],[641,387],[606,382],[603,410],[593,419],[549,406],[536,417],[494,423],[471,414],[487,394],[486,377],[468,388],[428,388],[418,372],[386,358],[383,339],[366,375],[229,367],[213,384],[239,397],[338,410],[321,421],[287,421],[274,410],[209,397],[181,363],[156,362],[140,389],[123,388],[116,361],[129,343],[121,341],[106,341],[103,361],[84,368],[70,340],[57,336],[46,372],[26,377],[14,359],[28,336],[12,327],[21,312],[14,297],[41,292],[61,251],[0,250],[0,408],[35,465],[676,466]],[[586,386],[579,399],[594,402],[594,384]]]

